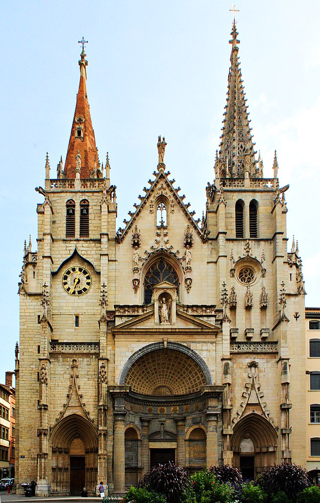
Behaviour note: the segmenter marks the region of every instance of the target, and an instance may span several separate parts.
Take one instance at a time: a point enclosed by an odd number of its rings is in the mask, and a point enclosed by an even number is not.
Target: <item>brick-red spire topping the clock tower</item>
[[[94,166],[98,163],[97,148],[95,145],[94,131],[90,116],[90,107],[86,90],[86,66],[88,62],[84,59],[86,54],[82,49],[80,66],[80,82],[77,101],[75,105],[68,151],[64,166],[66,178],[75,178],[77,151],[81,155],[80,178],[90,178]]]

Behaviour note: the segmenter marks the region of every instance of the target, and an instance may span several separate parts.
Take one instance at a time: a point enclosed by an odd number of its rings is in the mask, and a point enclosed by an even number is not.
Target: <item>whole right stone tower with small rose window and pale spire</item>
[[[293,448],[294,462],[302,464],[300,442],[305,427],[299,414],[304,408],[299,376],[305,351],[305,290],[301,259],[294,249],[287,253],[285,192],[289,185],[279,186],[276,153],[272,178],[264,178],[260,154],[256,160],[235,22],[231,36],[227,105],[215,182],[206,188],[204,223],[211,267],[216,269],[216,295],[224,312],[223,457],[225,462],[241,464],[242,430],[255,443],[259,427],[254,414],[259,412],[268,433],[259,447],[259,442],[255,445],[256,465],[269,464],[273,458],[290,462]],[[268,393],[273,379],[278,384]],[[293,398],[298,405],[291,410]],[[292,428],[300,438],[291,438]]]

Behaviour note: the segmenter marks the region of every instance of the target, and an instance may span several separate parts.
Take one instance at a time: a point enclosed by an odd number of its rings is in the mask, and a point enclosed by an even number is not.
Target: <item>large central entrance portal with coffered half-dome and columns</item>
[[[218,462],[217,422],[224,386],[214,385],[206,363],[195,351],[172,342],[145,346],[126,362],[118,383],[110,388],[114,400],[116,492],[121,492],[121,481],[129,480],[129,473],[133,473],[137,452],[139,478],[159,462],[170,460],[189,466],[193,454],[196,466],[191,462],[192,471]],[[133,424],[141,438],[140,456]],[[186,441],[186,432],[194,425],[198,429]],[[123,437],[125,466],[120,455]]]

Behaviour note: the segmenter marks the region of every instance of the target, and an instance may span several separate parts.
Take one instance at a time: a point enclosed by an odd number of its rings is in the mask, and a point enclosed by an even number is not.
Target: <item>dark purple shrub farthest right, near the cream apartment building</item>
[[[295,501],[299,492],[311,485],[311,480],[302,466],[282,463],[261,473],[257,483],[269,496],[283,491],[289,499]]]

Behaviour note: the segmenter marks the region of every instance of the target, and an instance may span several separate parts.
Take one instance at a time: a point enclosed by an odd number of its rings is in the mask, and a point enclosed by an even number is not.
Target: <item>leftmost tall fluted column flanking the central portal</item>
[[[115,492],[125,492],[125,414],[115,414],[114,469]]]

